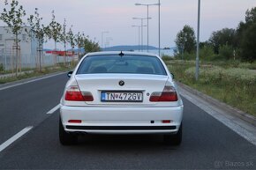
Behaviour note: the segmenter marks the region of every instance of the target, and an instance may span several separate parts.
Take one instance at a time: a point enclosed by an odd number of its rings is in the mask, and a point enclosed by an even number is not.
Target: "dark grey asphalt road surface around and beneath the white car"
[[[58,104],[65,75],[0,91],[0,144],[21,129],[24,136],[0,152],[0,169],[256,169],[256,146],[184,99],[180,146],[162,136],[85,136],[58,141]]]

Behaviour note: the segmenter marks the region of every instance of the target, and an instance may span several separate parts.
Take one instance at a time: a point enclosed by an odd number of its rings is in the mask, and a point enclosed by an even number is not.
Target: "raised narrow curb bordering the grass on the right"
[[[225,113],[227,113],[229,115],[235,115],[238,118],[244,120],[245,122],[249,122],[253,126],[256,127],[256,117],[254,117],[253,115],[249,115],[249,114],[237,109],[236,107],[231,107],[230,105],[227,105],[226,103],[223,103],[220,100],[216,100],[210,96],[207,96],[203,92],[199,92],[195,89],[192,89],[192,87],[190,87],[188,85],[184,85],[180,82],[176,82],[176,83],[179,86],[179,88],[184,89],[187,92],[191,92],[194,95],[197,95],[201,99],[206,100],[208,103],[215,105],[215,107],[221,108],[223,111],[225,111]]]

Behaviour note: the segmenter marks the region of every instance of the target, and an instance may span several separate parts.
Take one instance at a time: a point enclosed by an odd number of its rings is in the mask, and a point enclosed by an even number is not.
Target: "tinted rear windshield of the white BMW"
[[[79,65],[77,74],[128,73],[167,75],[161,61],[147,55],[91,55]]]

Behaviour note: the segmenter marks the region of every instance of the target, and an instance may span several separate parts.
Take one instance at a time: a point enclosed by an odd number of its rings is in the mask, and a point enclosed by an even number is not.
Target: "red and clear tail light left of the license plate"
[[[93,101],[91,92],[80,92],[79,86],[69,86],[65,93],[65,100],[69,101]]]

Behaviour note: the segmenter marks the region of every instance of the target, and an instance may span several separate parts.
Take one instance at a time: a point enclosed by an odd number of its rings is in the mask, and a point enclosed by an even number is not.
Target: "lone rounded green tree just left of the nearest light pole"
[[[179,54],[183,52],[192,53],[196,46],[196,37],[193,28],[185,25],[184,28],[177,33],[175,43]]]

